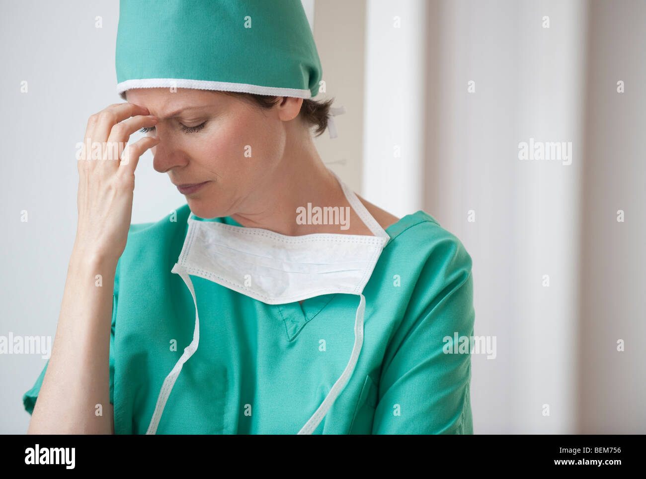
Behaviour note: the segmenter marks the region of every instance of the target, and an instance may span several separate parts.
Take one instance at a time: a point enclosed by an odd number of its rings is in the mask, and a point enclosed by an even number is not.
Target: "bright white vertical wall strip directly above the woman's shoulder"
[[[366,3],[362,191],[397,217],[422,206],[426,2]]]

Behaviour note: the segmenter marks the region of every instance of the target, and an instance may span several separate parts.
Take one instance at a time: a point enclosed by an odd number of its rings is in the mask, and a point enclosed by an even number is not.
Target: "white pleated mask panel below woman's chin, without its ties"
[[[285,304],[361,293],[386,241],[328,233],[289,237],[189,218],[178,265],[263,303]]]

